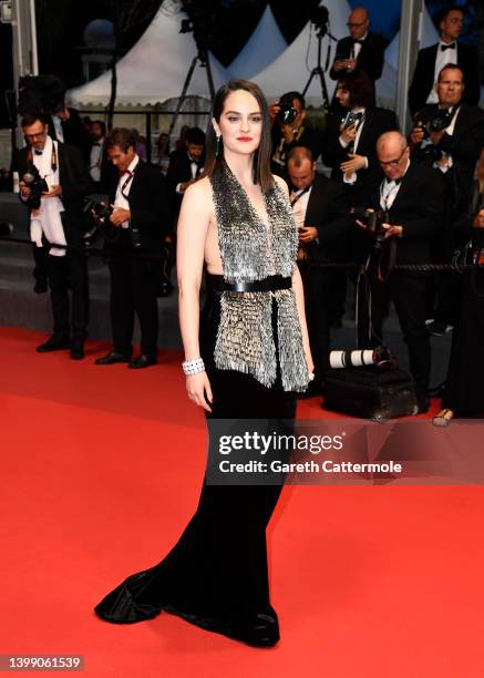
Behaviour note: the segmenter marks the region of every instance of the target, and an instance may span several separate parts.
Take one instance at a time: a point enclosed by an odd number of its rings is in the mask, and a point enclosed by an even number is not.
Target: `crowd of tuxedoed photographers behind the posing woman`
[[[369,32],[362,8],[350,13],[350,37],[338,43],[330,72],[337,89],[325,131],[311,125],[297,91],[269,107],[272,171],[289,184],[299,228],[317,376],[310,393],[321,389],[330,330],[341,325],[354,288],[359,347],[383,345],[392,300],[419,411],[429,409],[430,335],[461,327],[465,281],[450,270],[436,274],[432,265],[451,265],[457,255],[484,258],[484,112],[476,105],[476,64],[456,42],[462,19],[462,9],[446,10],[436,49],[419,54],[411,130],[400,130],[394,113],[375,105],[383,45]],[[38,351],[69,348],[72,358],[83,357],[85,248],[102,233],[113,347],[96,363],[154,364],[156,298],[172,288],[177,214],[183,193],[203,172],[204,132],[185,129],[169,154],[161,135],[156,166],[144,161],[143,140],[132,131],[106,134],[102,121],[82,121],[64,105],[49,120],[27,114],[21,124],[27,146],[18,158],[20,198],[31,215],[35,288],[50,287],[54,318],[53,335]],[[326,171],[317,171],[318,162]],[[133,356],[135,316],[141,351]]]

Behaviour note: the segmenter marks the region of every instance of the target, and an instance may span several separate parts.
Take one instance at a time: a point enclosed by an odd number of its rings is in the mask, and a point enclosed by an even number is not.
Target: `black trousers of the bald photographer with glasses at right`
[[[361,285],[361,282],[360,282]],[[425,290],[428,278],[392,274],[385,282],[370,280],[372,299],[372,336],[369,337],[369,314],[365,295],[360,288],[358,343],[360,348],[382,343],[383,319],[389,301],[393,301],[400,327],[409,349],[410,371],[418,398],[424,398],[430,381],[430,337],[425,327]]]

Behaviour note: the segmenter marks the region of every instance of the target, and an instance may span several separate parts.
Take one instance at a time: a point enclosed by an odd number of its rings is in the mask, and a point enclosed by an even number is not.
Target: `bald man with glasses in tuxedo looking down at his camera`
[[[380,167],[365,182],[362,206],[385,213],[383,257],[395,248],[395,264],[430,264],[431,239],[439,233],[444,202],[443,182],[431,167],[411,162],[410,147],[399,132],[387,132],[378,140]],[[369,236],[369,251],[372,249]],[[393,242],[393,243],[392,243]],[[373,261],[378,249],[372,249]],[[409,349],[410,370],[415,382],[419,411],[429,409],[430,338],[425,327],[425,274],[393,271],[379,281],[370,268],[371,320],[368,309],[359,319],[361,348],[383,343],[382,323],[390,299],[393,300]]]

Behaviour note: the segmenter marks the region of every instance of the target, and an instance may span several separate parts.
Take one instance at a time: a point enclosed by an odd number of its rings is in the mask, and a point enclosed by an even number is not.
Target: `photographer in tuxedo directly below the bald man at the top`
[[[343,182],[350,189],[361,184],[368,171],[377,167],[379,136],[398,130],[399,124],[392,111],[372,104],[372,83],[362,71],[341,75],[336,97],[343,115],[333,113],[328,120],[322,162],[332,168],[331,178]]]

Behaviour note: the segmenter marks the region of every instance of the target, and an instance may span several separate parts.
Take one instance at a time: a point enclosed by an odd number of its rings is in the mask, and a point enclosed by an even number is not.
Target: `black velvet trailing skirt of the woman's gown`
[[[219,294],[209,294],[200,320],[200,352],[214,396],[208,417],[294,419],[296,396],[282,390],[279,369],[276,383],[266,388],[248,374],[215,368],[219,300]],[[277,346],[276,325],[274,302]],[[96,614],[128,624],[166,610],[240,639],[257,615],[277,626],[269,600],[266,527],[280,490],[280,485],[210,485],[205,479],[197,511],[178,543],[161,563],[107,594]]]

